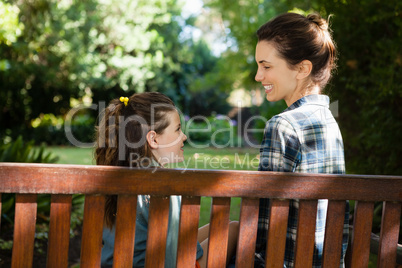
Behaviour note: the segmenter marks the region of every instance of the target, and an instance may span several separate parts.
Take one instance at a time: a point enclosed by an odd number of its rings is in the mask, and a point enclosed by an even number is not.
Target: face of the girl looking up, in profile
[[[152,150],[158,162],[162,165],[167,163],[182,162],[184,141],[187,136],[181,131],[179,113],[169,112],[167,114],[169,126],[162,134],[156,134],[157,146]]]

